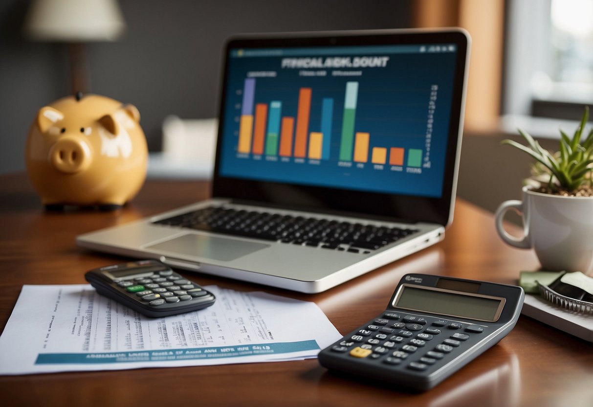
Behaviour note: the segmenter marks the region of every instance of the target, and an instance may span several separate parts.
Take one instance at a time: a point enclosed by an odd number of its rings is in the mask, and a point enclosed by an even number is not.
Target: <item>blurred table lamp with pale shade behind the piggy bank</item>
[[[33,0],[24,25],[31,40],[68,45],[73,94],[89,90],[84,43],[114,41],[124,29],[116,0]]]

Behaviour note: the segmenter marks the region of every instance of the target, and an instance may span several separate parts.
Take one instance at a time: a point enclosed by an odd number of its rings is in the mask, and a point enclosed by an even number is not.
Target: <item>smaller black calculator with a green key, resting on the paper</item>
[[[85,278],[101,295],[148,317],[201,310],[216,300],[212,292],[157,260],[138,260],[93,269]]]

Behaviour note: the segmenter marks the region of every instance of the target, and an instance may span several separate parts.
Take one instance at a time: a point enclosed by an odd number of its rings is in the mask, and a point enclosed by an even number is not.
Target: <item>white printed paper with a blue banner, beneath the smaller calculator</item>
[[[0,336],[0,374],[295,360],[342,337],[315,303],[206,289],[211,307],[148,318],[91,285],[24,285]]]

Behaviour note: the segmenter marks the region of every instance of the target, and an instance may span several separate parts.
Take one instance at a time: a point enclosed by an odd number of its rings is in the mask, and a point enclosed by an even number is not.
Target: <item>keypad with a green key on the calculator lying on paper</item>
[[[129,295],[136,295],[139,300],[152,307],[191,301],[208,295],[208,291],[199,285],[171,271],[161,271],[148,277],[115,283]]]

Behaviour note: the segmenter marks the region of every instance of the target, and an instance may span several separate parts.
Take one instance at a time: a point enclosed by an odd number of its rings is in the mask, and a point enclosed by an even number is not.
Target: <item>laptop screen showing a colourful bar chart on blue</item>
[[[216,177],[450,198],[465,44],[388,37],[231,41]]]

